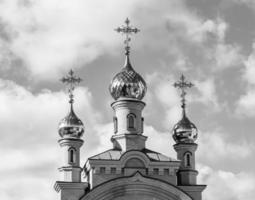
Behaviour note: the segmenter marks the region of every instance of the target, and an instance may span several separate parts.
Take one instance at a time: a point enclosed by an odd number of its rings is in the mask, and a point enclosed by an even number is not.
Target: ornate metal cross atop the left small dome
[[[71,69],[69,72],[68,72],[68,75],[61,78],[60,79],[63,83],[66,83],[68,85],[68,93],[69,93],[69,103],[72,105],[73,104],[73,91],[75,89],[75,86],[77,84],[79,84],[82,79],[80,77],[77,77],[74,75],[74,72],[73,70]]]

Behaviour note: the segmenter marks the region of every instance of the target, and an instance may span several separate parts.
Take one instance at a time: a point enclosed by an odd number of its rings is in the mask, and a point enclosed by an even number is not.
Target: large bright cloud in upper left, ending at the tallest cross
[[[141,3],[1,1],[1,24],[7,27],[1,35],[5,43],[1,51],[22,59],[24,67],[39,79],[55,78],[70,66],[81,67],[103,53],[114,52],[121,43],[113,28]]]

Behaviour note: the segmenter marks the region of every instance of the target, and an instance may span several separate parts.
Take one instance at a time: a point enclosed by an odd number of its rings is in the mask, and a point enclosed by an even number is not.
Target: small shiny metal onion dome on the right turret
[[[173,128],[173,138],[176,143],[193,143],[197,139],[196,126],[184,114]]]

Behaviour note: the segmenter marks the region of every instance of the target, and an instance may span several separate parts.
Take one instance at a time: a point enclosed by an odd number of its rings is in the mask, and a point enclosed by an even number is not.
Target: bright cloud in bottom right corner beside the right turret
[[[213,170],[208,166],[199,166],[199,182],[206,183],[204,200],[252,200],[255,192],[255,175],[253,173],[233,173]]]

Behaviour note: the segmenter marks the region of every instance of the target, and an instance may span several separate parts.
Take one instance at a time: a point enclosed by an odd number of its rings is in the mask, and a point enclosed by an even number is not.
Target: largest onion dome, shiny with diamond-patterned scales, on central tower
[[[126,55],[123,69],[114,76],[109,90],[115,100],[120,97],[141,100],[145,96],[147,90],[146,83],[131,66],[128,54]]]

